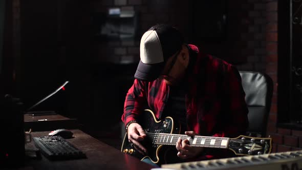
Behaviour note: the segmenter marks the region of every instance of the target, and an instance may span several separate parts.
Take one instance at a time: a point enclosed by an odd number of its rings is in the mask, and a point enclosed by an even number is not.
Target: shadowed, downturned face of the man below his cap
[[[160,78],[163,78],[169,86],[177,84],[184,76],[188,64],[188,59],[184,59],[183,55],[186,55],[186,53],[184,49],[181,49],[180,51],[169,57],[166,62]]]

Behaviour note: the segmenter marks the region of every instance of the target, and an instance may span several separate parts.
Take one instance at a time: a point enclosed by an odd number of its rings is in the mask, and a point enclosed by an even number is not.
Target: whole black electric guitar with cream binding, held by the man
[[[141,143],[147,149],[148,155],[143,155],[136,150],[134,145],[128,141],[127,133],[124,136],[121,152],[141,160],[148,157],[154,163],[169,163],[170,154],[168,153],[173,149],[176,151],[176,148],[167,146],[175,146],[179,138],[188,139],[191,146],[229,149],[235,155],[262,155],[271,152],[272,138],[243,135],[236,138],[180,135],[179,123],[176,123],[171,117],[157,120],[150,110],[145,110],[138,122],[147,135]],[[173,155],[176,156],[176,153]]]

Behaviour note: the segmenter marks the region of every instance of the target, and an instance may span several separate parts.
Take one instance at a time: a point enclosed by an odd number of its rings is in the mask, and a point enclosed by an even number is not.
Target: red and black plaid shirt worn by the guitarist
[[[246,133],[248,109],[238,70],[226,61],[199,52],[189,45],[188,93],[185,95],[187,131],[203,136],[237,137]],[[145,109],[147,103],[161,118],[169,86],[157,79],[152,82],[134,80],[124,103],[122,121],[126,124]]]

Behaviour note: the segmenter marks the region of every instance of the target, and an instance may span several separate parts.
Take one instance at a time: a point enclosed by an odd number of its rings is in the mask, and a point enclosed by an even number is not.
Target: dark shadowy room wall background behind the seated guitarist
[[[171,24],[201,51],[239,70],[272,77],[267,134],[274,138],[275,152],[294,150],[302,147],[300,131],[277,125],[288,121],[289,6],[277,0],[6,1],[1,94],[21,98],[28,108],[69,80],[66,91],[37,109],[77,118],[83,131],[119,147],[123,101],[134,80],[140,37],[155,24]],[[109,16],[110,8],[135,11],[135,17]],[[133,20],[131,38],[99,34],[106,22],[118,27]]]

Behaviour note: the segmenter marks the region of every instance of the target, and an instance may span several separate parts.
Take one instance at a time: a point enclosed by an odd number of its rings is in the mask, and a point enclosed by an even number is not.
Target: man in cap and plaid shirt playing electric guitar
[[[139,120],[147,107],[157,119],[171,116],[188,136],[237,137],[248,127],[248,109],[238,70],[230,63],[205,54],[174,27],[156,25],[140,42],[140,62],[128,90],[122,121],[127,138],[141,154],[147,134]],[[229,153],[193,147],[178,139],[177,157],[183,161],[222,158]],[[143,161],[157,163],[144,159]],[[175,160],[177,161],[177,160]]]

